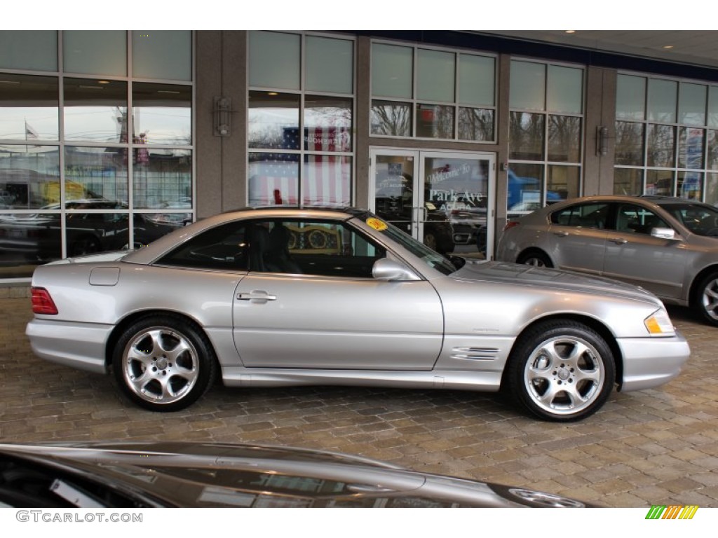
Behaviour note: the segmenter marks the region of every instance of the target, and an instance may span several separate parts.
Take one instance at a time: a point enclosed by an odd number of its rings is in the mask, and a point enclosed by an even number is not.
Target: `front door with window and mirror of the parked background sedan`
[[[686,270],[683,242],[652,237],[655,227],[671,226],[641,204],[617,204],[603,275],[643,286],[660,297],[680,298]]]

